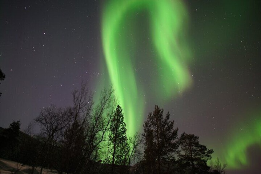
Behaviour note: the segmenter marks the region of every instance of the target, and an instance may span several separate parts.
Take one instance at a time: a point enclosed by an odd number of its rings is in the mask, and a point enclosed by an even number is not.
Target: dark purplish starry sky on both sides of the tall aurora
[[[14,119],[21,120],[24,129],[42,107],[70,105],[70,92],[82,80],[95,91],[99,79],[108,79],[101,71],[102,3],[0,3],[0,67],[6,74],[0,84],[1,127]],[[261,4],[253,0],[186,4],[193,87],[160,107],[170,111],[179,134],[199,135],[200,142],[215,151],[227,144],[238,123],[261,116]],[[155,104],[161,102],[147,101],[145,113]],[[246,114],[255,111],[255,116]],[[260,160],[260,146],[254,149],[257,153],[250,150],[250,161]],[[260,171],[260,165],[254,164],[243,173]]]

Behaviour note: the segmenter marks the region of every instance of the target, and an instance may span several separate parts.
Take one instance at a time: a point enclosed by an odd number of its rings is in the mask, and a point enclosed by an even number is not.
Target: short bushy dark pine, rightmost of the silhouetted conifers
[[[185,132],[181,134],[179,144],[179,166],[189,174],[208,173],[210,167],[207,166],[207,160],[211,159],[213,150],[199,144],[199,136]]]

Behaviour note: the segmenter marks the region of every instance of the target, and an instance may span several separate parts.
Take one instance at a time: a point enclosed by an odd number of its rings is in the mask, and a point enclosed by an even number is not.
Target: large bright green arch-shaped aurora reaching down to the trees
[[[150,90],[135,75],[137,60],[128,54],[136,43],[128,40],[124,27],[129,16],[148,13],[152,49],[160,73],[153,78],[158,99],[167,100],[182,93],[191,85],[187,62],[191,58],[186,40],[187,10],[179,0],[108,0],[102,11],[102,46],[110,81],[122,106],[128,135],[139,131],[143,124],[146,98]],[[140,23],[140,25],[143,25]],[[141,43],[138,43],[141,45]],[[133,46],[133,47],[131,47]],[[146,59],[146,58],[144,58]]]

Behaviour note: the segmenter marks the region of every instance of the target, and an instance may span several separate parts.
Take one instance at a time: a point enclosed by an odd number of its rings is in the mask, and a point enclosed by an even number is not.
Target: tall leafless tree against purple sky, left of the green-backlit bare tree
[[[86,125],[89,122],[90,112],[93,106],[93,94],[87,88],[87,83],[81,83],[81,88],[72,91],[73,106],[66,112],[71,116],[71,122],[66,127],[61,142],[62,153],[60,172],[75,173],[81,170],[81,160],[84,159],[83,149],[86,148]]]

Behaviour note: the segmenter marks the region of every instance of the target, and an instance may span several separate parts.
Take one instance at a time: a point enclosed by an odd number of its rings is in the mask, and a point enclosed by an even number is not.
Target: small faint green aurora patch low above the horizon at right
[[[223,163],[227,163],[228,169],[250,167],[248,150],[255,145],[261,148],[261,112],[247,115],[249,115],[249,120],[240,121],[236,129],[227,137],[223,149],[218,151],[219,148],[217,148],[218,152],[214,152],[214,156],[220,157]]]

